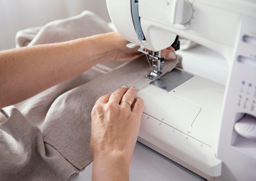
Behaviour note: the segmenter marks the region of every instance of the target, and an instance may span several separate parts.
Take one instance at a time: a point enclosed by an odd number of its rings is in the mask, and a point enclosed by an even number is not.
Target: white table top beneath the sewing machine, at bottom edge
[[[92,163],[69,181],[90,181]],[[137,142],[130,165],[130,181],[202,181],[199,175],[187,170],[161,154]]]

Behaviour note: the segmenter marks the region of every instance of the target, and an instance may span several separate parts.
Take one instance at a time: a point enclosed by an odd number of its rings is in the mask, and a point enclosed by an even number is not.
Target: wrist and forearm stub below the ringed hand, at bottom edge
[[[92,181],[129,181],[130,161],[123,152],[110,152],[94,157]]]

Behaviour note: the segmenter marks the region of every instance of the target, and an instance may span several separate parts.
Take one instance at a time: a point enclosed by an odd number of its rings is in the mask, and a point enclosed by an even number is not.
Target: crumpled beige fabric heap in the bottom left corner
[[[0,162],[2,181],[63,181],[79,172],[44,143],[40,129],[16,107],[10,107],[9,118],[0,124]]]

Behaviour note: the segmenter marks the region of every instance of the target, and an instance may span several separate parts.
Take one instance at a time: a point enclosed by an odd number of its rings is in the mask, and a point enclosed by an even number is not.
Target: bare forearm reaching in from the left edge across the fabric
[[[115,58],[112,34],[0,52],[0,108]]]

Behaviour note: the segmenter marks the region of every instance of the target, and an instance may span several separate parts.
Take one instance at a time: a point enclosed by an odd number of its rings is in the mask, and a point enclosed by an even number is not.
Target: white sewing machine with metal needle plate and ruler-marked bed
[[[256,2],[106,2],[117,31],[152,65],[152,82],[137,93],[138,141],[210,181],[256,180]],[[184,69],[161,74],[161,50],[178,49],[177,35],[225,57],[226,86]]]

